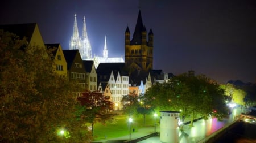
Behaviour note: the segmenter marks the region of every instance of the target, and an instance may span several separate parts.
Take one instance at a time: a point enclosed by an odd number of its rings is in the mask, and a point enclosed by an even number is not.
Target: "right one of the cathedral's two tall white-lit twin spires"
[[[82,27],[82,49],[84,53],[82,53],[83,59],[90,59],[92,58],[92,47],[90,46],[90,41],[87,36],[87,29],[85,23],[85,16],[84,16],[84,24]]]

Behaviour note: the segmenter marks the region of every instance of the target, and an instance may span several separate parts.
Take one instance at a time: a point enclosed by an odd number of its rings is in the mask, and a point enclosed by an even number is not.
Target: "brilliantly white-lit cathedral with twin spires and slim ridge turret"
[[[82,27],[82,37],[79,37],[79,29],[77,27],[77,20],[75,14],[75,21],[73,27],[73,35],[71,37],[71,41],[69,42],[69,50],[79,50],[82,60],[93,60],[95,67],[98,67],[100,63],[124,63],[125,61],[121,57],[108,57],[108,49],[106,45],[106,36],[105,36],[105,44],[103,50],[103,57],[94,56],[92,57],[92,47],[90,45],[90,41],[87,34],[86,22],[84,16],[84,22]]]

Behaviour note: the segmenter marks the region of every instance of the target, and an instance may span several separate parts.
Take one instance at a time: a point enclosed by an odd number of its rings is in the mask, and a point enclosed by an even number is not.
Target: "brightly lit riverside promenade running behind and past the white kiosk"
[[[201,118],[196,119],[193,122],[193,127],[189,124],[189,119],[184,123],[183,131],[179,131],[179,142],[193,143],[200,142],[205,137],[212,135],[212,133],[218,131],[219,129],[225,127],[227,124],[232,124],[236,122],[236,117],[241,114],[241,112],[246,113],[246,109],[235,108],[232,114],[228,118],[224,118],[222,121],[218,121],[217,118],[209,118],[204,120]],[[156,136],[155,127],[147,126],[141,127],[138,131],[131,132],[131,136],[127,133],[126,136],[116,137],[116,138],[102,138],[101,140],[93,141],[94,143],[105,143],[105,142],[140,142],[140,143],[162,143],[160,141],[160,125],[156,126]],[[130,140],[131,138],[131,140]],[[139,140],[138,140],[139,139]]]

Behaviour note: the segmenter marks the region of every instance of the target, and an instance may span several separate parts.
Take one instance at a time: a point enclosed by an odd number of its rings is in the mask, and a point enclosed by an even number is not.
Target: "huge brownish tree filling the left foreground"
[[[53,72],[44,47],[0,31],[0,142],[81,142],[76,85]],[[65,136],[57,132],[65,129]]]

